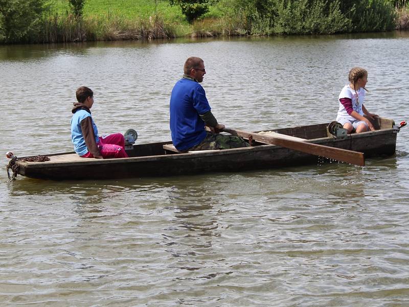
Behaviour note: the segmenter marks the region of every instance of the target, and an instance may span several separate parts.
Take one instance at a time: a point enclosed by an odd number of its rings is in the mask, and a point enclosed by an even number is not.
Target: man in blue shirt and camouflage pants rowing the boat
[[[221,135],[224,128],[211,112],[203,87],[199,84],[206,74],[201,58],[190,57],[184,75],[176,82],[170,97],[170,130],[177,150],[229,149],[250,146],[244,139]],[[212,131],[206,131],[208,126]]]

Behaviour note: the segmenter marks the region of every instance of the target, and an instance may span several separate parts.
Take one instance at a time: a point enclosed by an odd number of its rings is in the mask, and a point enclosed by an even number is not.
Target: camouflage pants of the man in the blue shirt
[[[251,146],[243,138],[232,135],[222,135],[207,131],[205,139],[189,148],[188,150],[215,150],[215,149],[231,149]]]

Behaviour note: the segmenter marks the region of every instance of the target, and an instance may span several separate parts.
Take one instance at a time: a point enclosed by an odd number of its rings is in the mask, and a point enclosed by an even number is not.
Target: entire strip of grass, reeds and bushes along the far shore
[[[406,30],[407,2],[0,0],[0,43]]]

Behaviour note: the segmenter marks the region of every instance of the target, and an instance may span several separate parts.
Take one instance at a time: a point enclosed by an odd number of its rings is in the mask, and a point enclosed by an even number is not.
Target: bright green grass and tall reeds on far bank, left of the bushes
[[[190,25],[180,9],[155,0],[87,0],[78,20],[66,0],[52,0],[42,40],[120,40],[181,37]],[[40,40],[41,37],[38,37]]]

